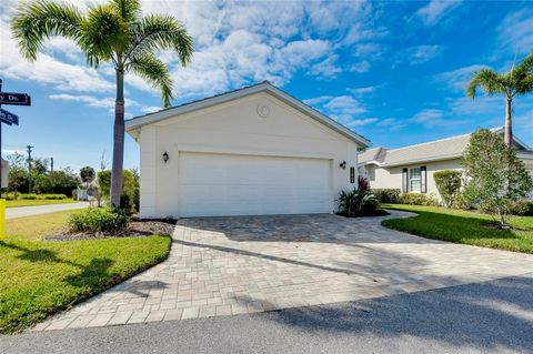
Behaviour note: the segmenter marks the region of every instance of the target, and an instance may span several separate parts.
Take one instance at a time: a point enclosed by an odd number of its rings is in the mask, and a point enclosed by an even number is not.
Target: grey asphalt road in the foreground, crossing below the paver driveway
[[[0,337],[0,353],[532,353],[533,275],[253,315]]]

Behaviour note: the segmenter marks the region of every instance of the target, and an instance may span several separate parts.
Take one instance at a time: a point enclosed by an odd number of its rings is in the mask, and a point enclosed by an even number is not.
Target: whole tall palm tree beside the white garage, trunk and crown
[[[173,51],[184,67],[192,57],[192,38],[171,16],[142,17],[139,0],[109,0],[86,12],[64,2],[23,2],[13,16],[11,30],[20,52],[30,61],[37,60],[44,40],[62,36],[78,44],[89,65],[98,68],[105,62],[114,67],[117,99],[111,203],[118,206],[124,155],[124,74],[131,72],[143,78],[161,91],[163,105],[169,107],[173,99],[172,79],[155,53]]]

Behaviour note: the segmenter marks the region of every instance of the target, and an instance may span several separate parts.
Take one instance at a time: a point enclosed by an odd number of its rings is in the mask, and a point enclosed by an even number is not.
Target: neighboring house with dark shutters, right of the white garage
[[[492,131],[503,136],[503,128]],[[373,189],[399,189],[402,192],[429,193],[439,198],[433,173],[461,170],[461,160],[470,134],[430,141],[400,149],[375,148],[359,154],[359,173]],[[514,139],[517,156],[533,174],[533,150]]]

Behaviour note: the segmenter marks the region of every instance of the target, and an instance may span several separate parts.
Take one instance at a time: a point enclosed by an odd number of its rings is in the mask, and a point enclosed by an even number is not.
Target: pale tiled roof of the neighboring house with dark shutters
[[[492,129],[493,132],[503,134],[503,128]],[[469,144],[469,134],[456,135],[434,140],[421,144],[409,145],[400,149],[375,148],[359,154],[359,162],[364,164],[378,164],[382,166],[395,166],[400,164],[443,161],[461,158]],[[514,139],[519,151],[531,151],[531,148],[520,139]]]

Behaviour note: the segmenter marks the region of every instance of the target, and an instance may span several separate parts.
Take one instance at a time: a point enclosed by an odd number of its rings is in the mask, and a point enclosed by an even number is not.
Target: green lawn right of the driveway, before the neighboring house
[[[483,223],[490,215],[436,206],[384,204],[383,208],[414,212],[409,219],[384,220],[386,227],[428,239],[533,254],[533,216],[513,216],[517,230],[491,230]]]

